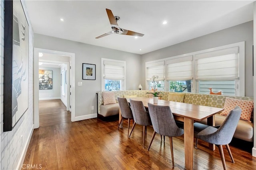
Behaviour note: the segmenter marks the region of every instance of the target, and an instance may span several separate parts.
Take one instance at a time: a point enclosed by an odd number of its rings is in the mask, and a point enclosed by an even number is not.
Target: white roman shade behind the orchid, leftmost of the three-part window
[[[158,81],[164,80],[164,61],[146,63],[146,80],[151,80],[154,75],[158,76]]]

